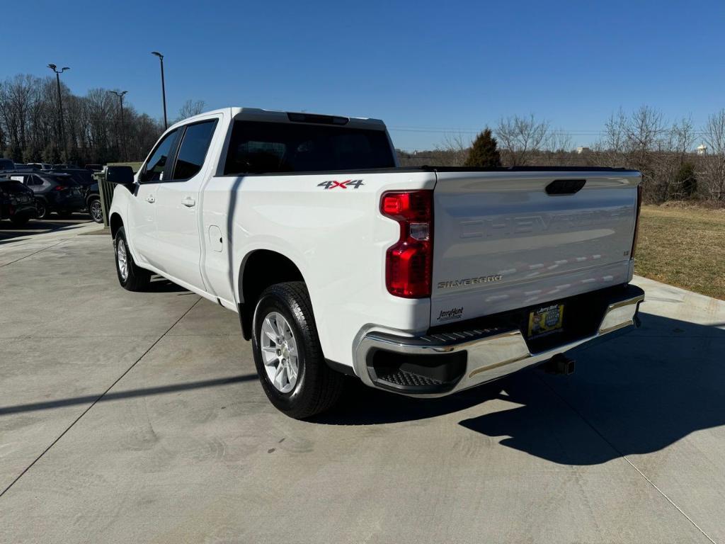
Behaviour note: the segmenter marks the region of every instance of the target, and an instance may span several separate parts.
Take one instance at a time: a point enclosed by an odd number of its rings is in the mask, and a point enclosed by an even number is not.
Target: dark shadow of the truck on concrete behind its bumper
[[[573,376],[523,371],[434,401],[356,392],[337,421],[326,422],[391,423],[484,403],[481,415],[460,421],[486,437],[481,447],[493,437],[507,448],[568,465],[650,453],[724,425],[725,330],[719,323],[640,315],[641,329],[573,350],[578,362]]]

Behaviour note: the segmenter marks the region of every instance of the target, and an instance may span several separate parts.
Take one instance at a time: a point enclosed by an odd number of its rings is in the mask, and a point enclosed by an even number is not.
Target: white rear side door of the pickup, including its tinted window
[[[169,276],[207,290],[202,280],[199,213],[207,154],[218,116],[183,126],[173,169],[157,192],[159,268]]]

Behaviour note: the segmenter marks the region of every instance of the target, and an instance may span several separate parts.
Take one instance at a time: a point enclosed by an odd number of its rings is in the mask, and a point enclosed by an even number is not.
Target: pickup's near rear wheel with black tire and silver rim
[[[279,411],[294,419],[305,419],[328,410],[339,400],[344,376],[325,362],[310,294],[302,281],[265,289],[254,310],[252,330],[254,365],[262,389]],[[277,342],[268,334],[270,331]],[[285,356],[287,362],[282,363]]]

